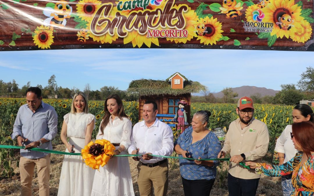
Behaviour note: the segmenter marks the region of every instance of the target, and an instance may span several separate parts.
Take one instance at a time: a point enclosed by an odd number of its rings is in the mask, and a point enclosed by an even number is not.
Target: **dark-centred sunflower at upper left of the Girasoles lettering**
[[[95,12],[100,7],[101,2],[97,0],[82,0],[76,4],[76,10],[79,18],[87,22],[91,22]]]

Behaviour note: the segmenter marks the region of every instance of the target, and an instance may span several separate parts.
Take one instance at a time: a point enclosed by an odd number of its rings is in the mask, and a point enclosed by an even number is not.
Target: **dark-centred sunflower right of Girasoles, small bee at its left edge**
[[[204,43],[204,45],[213,45],[216,44],[216,41],[218,41],[222,37],[222,23],[219,23],[217,21],[217,18],[214,19],[214,17],[209,18],[206,16],[204,19],[199,19],[200,23],[203,23],[206,27],[207,33],[205,33],[203,36],[198,36],[197,40],[201,40],[201,43]]]

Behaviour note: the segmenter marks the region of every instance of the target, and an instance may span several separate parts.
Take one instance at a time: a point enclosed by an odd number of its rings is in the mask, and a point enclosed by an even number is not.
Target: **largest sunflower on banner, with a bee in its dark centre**
[[[264,23],[273,23],[273,31],[270,33],[271,36],[276,35],[277,37],[289,38],[289,35],[296,31],[296,28],[301,28],[300,21],[303,20],[301,15],[301,7],[295,4],[294,0],[270,0],[265,8],[263,8],[265,17]],[[279,21],[284,14],[291,17],[291,26],[289,29],[283,28],[282,23]]]

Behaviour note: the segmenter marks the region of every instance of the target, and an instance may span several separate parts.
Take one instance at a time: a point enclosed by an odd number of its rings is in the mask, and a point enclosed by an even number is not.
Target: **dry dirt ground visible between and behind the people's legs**
[[[57,145],[54,147],[54,150],[64,151],[64,145]],[[20,177],[19,177],[19,168],[16,167],[17,160],[19,160],[19,155],[16,156],[16,160],[12,163],[14,166],[14,175],[12,178],[2,178],[0,179],[0,195],[10,195],[17,196],[20,195]],[[50,195],[56,196],[59,187],[59,178],[62,167],[63,155],[51,154],[51,169],[50,169]],[[138,185],[136,183],[138,171],[136,165],[138,162],[133,161],[131,157],[129,157],[131,175],[133,180],[133,188],[136,196],[139,196]],[[181,182],[180,170],[178,167],[178,162],[175,161],[171,163],[173,165],[169,170],[169,187],[167,195],[169,196],[181,196],[184,195],[183,187]],[[224,163],[223,170],[227,167],[227,164]],[[33,179],[33,194],[38,195],[38,180],[37,180],[37,171],[35,169],[34,179]],[[211,191],[210,195],[213,196],[227,196],[227,179],[226,174],[220,175],[220,168],[218,168],[218,174],[216,181],[214,183],[214,187]],[[219,188],[219,183],[221,180],[221,188]],[[262,174],[262,177],[259,181],[259,185],[257,188],[258,196],[280,196],[282,195],[280,184],[280,177],[268,177]]]

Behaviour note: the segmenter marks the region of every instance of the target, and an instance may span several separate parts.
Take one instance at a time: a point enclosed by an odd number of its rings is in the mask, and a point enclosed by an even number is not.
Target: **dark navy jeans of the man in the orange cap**
[[[228,173],[229,196],[255,196],[259,178],[242,179]]]

